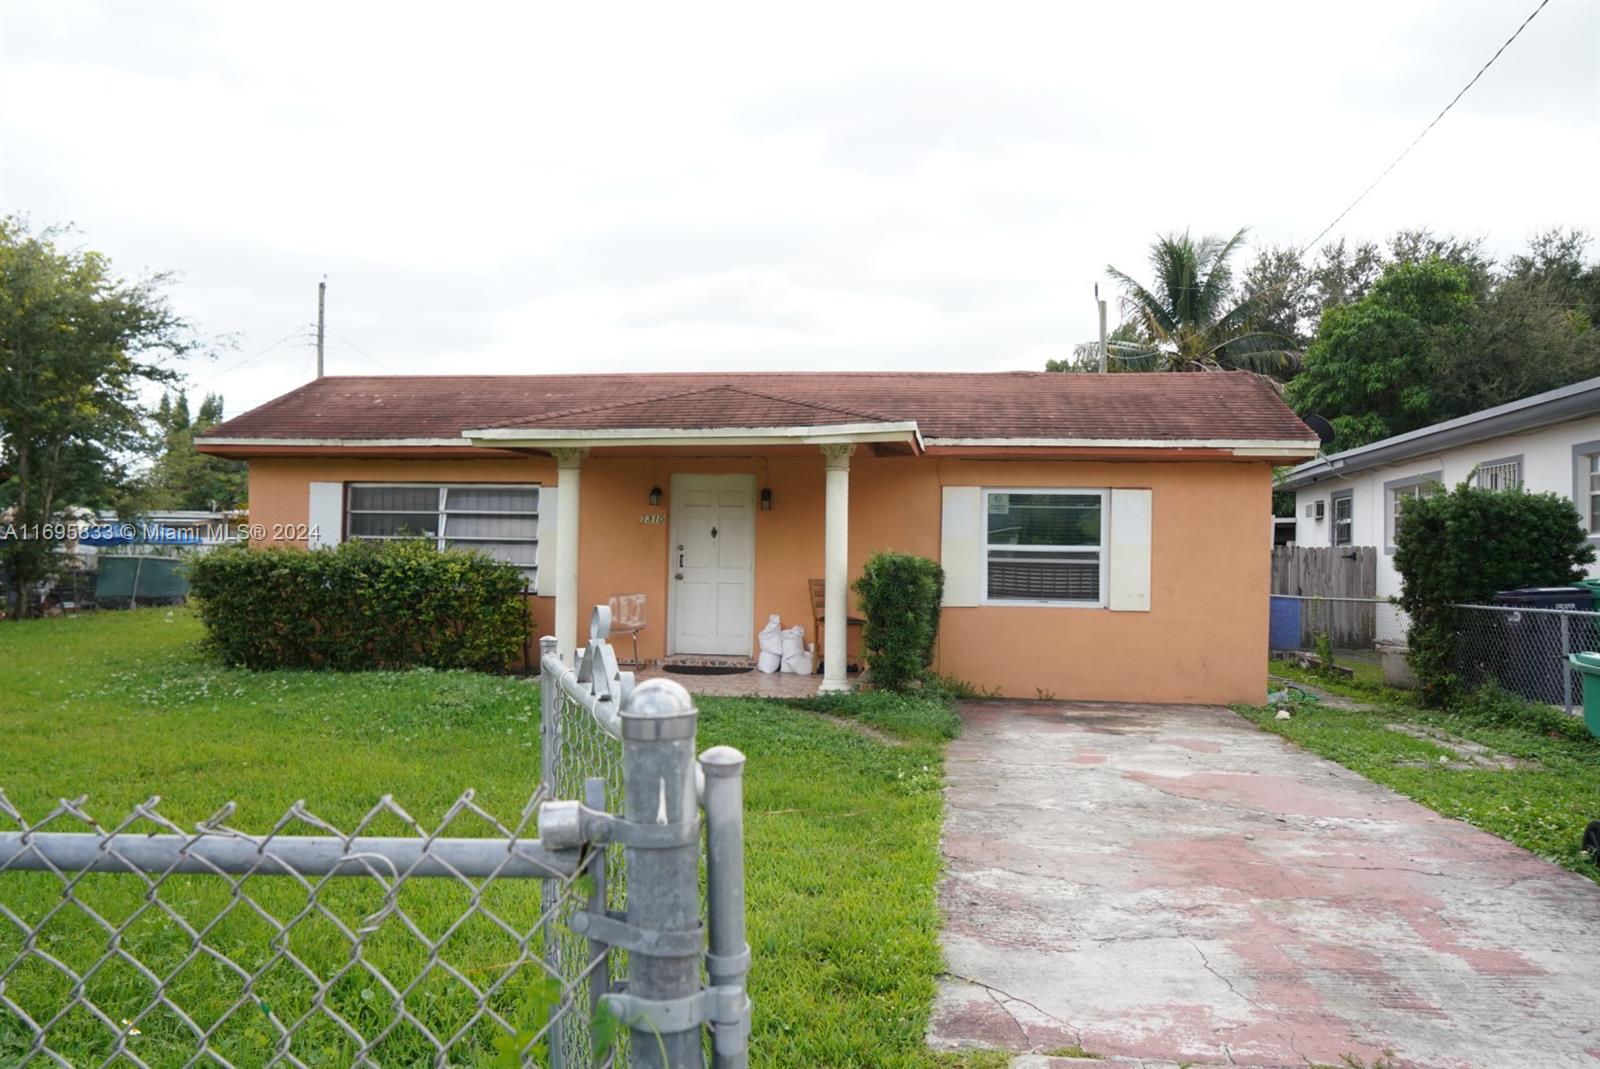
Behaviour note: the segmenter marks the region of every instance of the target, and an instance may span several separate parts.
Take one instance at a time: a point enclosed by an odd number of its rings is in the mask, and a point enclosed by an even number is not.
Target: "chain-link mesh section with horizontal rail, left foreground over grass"
[[[424,826],[386,797],[349,827],[296,803],[250,834],[232,805],[184,829],[158,799],[106,824],[0,795],[0,1064],[544,1064],[581,866],[534,837],[542,800]]]

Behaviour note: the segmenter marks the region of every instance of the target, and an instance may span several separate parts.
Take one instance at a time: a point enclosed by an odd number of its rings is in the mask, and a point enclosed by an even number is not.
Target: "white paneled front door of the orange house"
[[[755,475],[674,475],[670,653],[750,656]]]

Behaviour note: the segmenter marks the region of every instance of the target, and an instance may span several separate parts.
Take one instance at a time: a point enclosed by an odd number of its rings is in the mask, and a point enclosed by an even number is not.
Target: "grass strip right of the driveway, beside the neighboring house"
[[[1278,663],[1272,671],[1278,671]],[[1309,682],[1344,696],[1366,698],[1360,682]],[[1581,850],[1584,826],[1600,819],[1600,739],[1560,711],[1485,688],[1448,712],[1414,704],[1344,711],[1322,703],[1296,704],[1291,720],[1277,720],[1275,707],[1242,706],[1238,712],[1445,816],[1475,824],[1600,882],[1600,869]],[[1390,731],[1389,723],[1427,725],[1538,765],[1506,771],[1453,770],[1438,759],[1454,760],[1454,754]],[[1413,767],[1414,762],[1422,767]]]

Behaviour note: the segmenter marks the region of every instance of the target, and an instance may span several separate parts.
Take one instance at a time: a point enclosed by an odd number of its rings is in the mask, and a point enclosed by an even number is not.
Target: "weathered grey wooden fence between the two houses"
[[[1274,546],[1272,592],[1317,597],[1378,597],[1373,546]],[[1378,639],[1376,603],[1302,602],[1301,648],[1328,632],[1339,650],[1370,650]]]

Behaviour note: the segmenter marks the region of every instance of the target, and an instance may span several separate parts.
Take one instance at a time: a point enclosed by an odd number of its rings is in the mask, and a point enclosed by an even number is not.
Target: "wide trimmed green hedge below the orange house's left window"
[[[501,672],[528,626],[515,567],[426,541],[224,547],[187,571],[206,643],[251,669]]]

